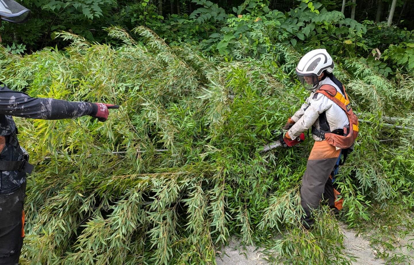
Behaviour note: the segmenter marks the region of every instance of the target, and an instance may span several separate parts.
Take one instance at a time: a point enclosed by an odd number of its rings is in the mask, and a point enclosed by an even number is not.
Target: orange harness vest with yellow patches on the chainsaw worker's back
[[[330,84],[324,84],[322,85],[315,93],[320,93],[325,96],[327,96],[328,99],[332,100],[337,104],[339,107],[341,107],[345,113],[347,114],[348,120],[349,120],[349,132],[347,131],[348,128],[344,128],[344,134],[343,135],[337,135],[335,133],[326,132],[325,133],[325,140],[335,147],[339,147],[342,149],[346,149],[351,147],[351,145],[354,144],[356,137],[358,137],[358,117],[354,114],[351,108],[351,104],[349,103],[349,98],[347,93],[344,89],[344,96],[342,96],[341,93],[337,91],[335,87],[333,87]]]

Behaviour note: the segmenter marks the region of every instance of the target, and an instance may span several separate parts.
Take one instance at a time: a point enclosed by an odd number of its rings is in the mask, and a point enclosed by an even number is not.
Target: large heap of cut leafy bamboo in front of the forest
[[[292,78],[300,53],[280,45],[276,60],[223,63],[168,46],[148,29],[136,32],[144,44],[111,28],[124,46],[61,33],[72,41],[65,51],[18,57],[0,50],[1,81],[10,88],[121,106],[106,123],[16,119],[36,164],[21,263],[211,264],[231,236],[268,246],[269,257],[285,264],[349,263],[329,209],[315,213],[313,231],[298,228],[312,142],[257,152],[308,95]],[[353,108],[371,121],[360,124],[356,149],[337,178],[341,218],[366,226],[374,205],[396,201],[409,215],[412,135],[383,127],[378,112],[412,120],[412,96],[397,89],[412,89],[412,77],[385,80],[353,59],[336,71]],[[380,142],[384,137],[398,141]]]

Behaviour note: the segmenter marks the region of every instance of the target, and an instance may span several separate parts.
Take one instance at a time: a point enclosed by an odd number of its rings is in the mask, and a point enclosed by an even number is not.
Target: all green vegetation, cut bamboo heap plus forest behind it
[[[21,3],[33,14],[0,27],[0,81],[121,105],[106,123],[16,119],[36,164],[22,264],[211,264],[232,236],[274,262],[350,264],[337,219],[385,263],[412,262],[414,2]],[[332,54],[361,123],[335,181],[344,209],[322,207],[306,231],[313,142],[258,150],[308,95],[294,68],[313,48]]]

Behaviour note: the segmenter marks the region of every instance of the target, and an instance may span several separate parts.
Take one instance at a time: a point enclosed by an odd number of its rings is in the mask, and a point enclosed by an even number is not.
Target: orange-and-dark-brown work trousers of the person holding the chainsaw
[[[305,211],[303,226],[306,228],[313,224],[312,210],[318,208],[322,198],[328,200],[329,206],[335,207],[335,191],[330,175],[341,153],[341,149],[327,143],[327,141],[315,141],[310,152],[306,171],[302,178],[301,205]]]

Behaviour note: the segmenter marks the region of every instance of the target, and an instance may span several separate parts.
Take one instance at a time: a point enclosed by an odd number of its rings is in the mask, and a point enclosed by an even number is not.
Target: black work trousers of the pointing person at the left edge
[[[23,246],[26,182],[14,193],[0,195],[0,265],[17,265]]]

